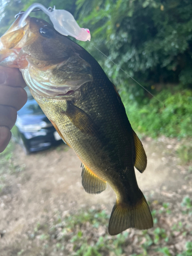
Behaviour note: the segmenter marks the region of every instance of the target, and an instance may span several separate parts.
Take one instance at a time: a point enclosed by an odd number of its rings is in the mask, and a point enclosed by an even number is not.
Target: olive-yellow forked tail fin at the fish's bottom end
[[[134,206],[116,203],[113,207],[109,233],[115,235],[130,227],[137,229],[153,227],[153,218],[143,194],[141,200]]]

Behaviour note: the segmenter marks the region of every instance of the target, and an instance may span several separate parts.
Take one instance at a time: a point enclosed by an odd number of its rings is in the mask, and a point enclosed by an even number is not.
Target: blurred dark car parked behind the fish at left
[[[29,89],[27,103],[17,112],[17,120],[13,127],[13,140],[18,142],[26,154],[44,150],[61,142],[52,123],[40,109]]]

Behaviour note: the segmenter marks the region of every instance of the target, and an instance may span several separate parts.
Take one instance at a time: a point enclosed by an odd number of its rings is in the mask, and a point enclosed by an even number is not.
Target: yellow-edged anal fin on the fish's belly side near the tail
[[[82,186],[89,194],[99,194],[106,188],[106,182],[99,179],[88,167],[84,164],[82,167]]]

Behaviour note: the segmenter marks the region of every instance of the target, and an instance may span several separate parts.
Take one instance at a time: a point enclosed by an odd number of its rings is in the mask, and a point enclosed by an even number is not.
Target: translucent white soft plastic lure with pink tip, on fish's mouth
[[[80,28],[74,19],[73,15],[66,10],[56,10],[55,8],[51,11],[41,4],[31,5],[23,14],[19,22],[19,27],[22,28],[25,24],[25,20],[33,9],[39,8],[45,12],[51,19],[53,26],[57,32],[62,35],[70,35],[80,41],[91,40],[91,34],[89,29]]]

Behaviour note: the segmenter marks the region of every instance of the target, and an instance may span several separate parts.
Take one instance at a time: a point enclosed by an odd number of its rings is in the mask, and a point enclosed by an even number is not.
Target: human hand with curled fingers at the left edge
[[[18,69],[0,66],[0,153],[11,139],[10,130],[15,124],[17,111],[27,101],[24,87],[26,83]]]

